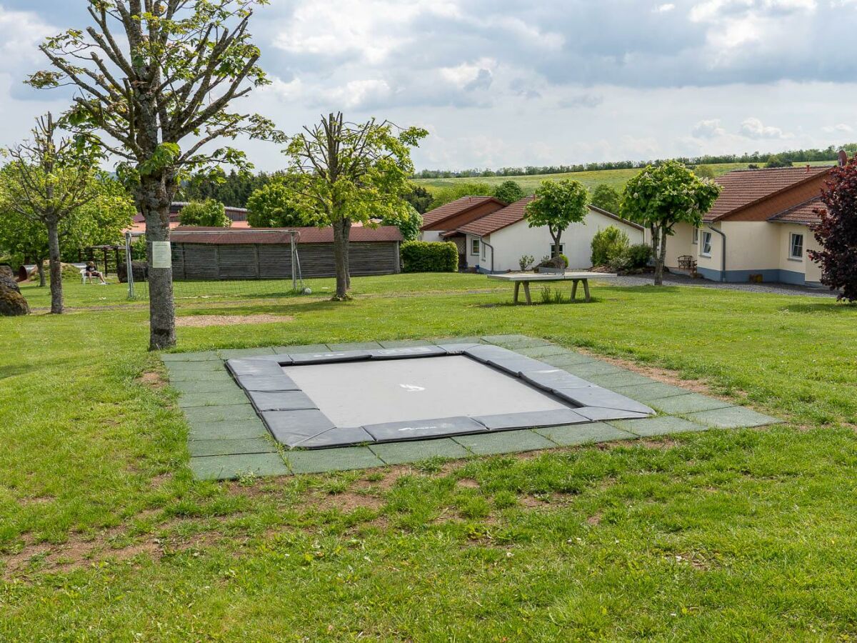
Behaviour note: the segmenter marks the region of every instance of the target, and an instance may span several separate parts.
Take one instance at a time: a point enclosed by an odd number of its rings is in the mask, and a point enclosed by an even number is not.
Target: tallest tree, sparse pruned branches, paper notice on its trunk
[[[176,344],[172,270],[153,261],[153,244],[163,257],[181,178],[218,163],[250,166],[233,147],[206,152],[212,141],[278,137],[267,118],[229,110],[267,83],[248,30],[266,1],[87,0],[93,24],[46,39],[40,49],[53,69],[28,79],[74,86],[69,123],[122,159],[117,174],[146,220],[150,350]]]

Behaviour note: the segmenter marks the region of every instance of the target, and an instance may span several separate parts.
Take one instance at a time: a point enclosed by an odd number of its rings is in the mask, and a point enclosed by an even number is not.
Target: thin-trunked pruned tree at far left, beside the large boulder
[[[81,138],[57,140],[51,113],[39,117],[33,140],[4,150],[11,159],[0,184],[4,208],[45,226],[51,266],[51,313],[63,312],[63,267],[59,227],[97,195],[93,189],[98,147]],[[40,274],[41,279],[44,276]]]

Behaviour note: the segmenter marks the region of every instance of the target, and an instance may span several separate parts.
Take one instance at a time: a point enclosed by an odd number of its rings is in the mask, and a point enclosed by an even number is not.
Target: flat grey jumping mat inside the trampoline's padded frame
[[[461,355],[285,366],[283,371],[337,426],[571,406]]]

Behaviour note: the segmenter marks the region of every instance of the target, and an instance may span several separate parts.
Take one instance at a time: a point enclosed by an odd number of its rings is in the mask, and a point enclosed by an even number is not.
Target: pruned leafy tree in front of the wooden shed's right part
[[[393,123],[348,123],[342,112],[321,117],[289,140],[286,188],[295,206],[333,225],[336,295],[348,297],[348,237],[351,223],[399,219],[411,206],[403,199],[414,171],[411,147],[428,135],[422,128],[399,129]]]

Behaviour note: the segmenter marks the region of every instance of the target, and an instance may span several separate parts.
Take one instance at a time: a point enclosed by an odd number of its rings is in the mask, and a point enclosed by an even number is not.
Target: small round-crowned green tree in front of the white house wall
[[[586,218],[589,212],[589,193],[583,183],[564,178],[561,181],[542,181],[536,189],[536,198],[527,204],[524,218],[530,228],[547,226],[554,240],[551,256],[560,255],[560,238],[572,223]]]

